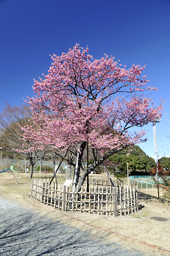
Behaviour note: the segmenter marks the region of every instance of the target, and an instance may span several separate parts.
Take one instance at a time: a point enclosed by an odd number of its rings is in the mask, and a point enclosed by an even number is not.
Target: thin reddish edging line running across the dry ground
[[[31,199],[31,198],[29,198],[29,199]],[[31,199],[31,201],[33,201],[33,202],[35,202],[35,203],[37,203],[37,204],[40,204],[39,202],[34,201],[33,199]],[[77,219],[75,219],[75,218],[72,218],[72,217],[70,217],[70,216],[68,216],[68,215],[66,215],[66,214],[64,214],[64,213],[61,213],[61,212],[57,211],[56,209],[52,209],[51,207],[48,207],[48,206],[46,206],[46,205],[44,205],[44,204],[40,204],[40,205],[42,205],[42,206],[44,206],[44,207],[46,207],[46,208],[48,208],[48,209],[51,209],[52,211],[57,212],[57,213],[59,213],[59,214],[61,214],[61,215],[64,215],[64,216],[66,216],[66,217],[68,217],[68,218],[71,218],[72,220],[79,221],[79,220],[77,220]],[[123,237],[123,238],[133,240],[133,241],[135,241],[135,242],[137,242],[137,243],[144,244],[144,245],[146,245],[146,246],[148,246],[148,247],[151,247],[151,248],[154,248],[154,249],[157,249],[157,250],[161,250],[162,252],[170,253],[169,250],[161,249],[161,248],[159,248],[159,247],[157,247],[157,246],[154,246],[154,245],[152,245],[152,244],[147,244],[147,243],[145,243],[145,242],[138,241],[138,240],[136,240],[136,239],[133,239],[133,238],[130,238],[130,237],[127,237],[127,236],[119,235],[119,234],[117,234],[117,233],[115,233],[115,232],[113,232],[113,231],[104,230],[104,229],[101,228],[101,227],[96,227],[96,226],[93,226],[93,225],[91,225],[91,224],[85,223],[85,222],[83,222],[83,221],[79,221],[79,222],[81,222],[81,223],[83,223],[83,224],[85,224],[85,225],[88,225],[88,226],[90,226],[90,227],[94,227],[94,228],[97,228],[97,229],[99,229],[99,230],[103,230],[103,231],[105,231],[105,232],[112,233],[112,234],[114,234],[114,235],[116,235],[116,236],[121,236],[121,237]]]

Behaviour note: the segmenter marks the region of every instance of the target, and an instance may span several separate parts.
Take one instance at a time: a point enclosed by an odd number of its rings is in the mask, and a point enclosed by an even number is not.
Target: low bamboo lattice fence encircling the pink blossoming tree
[[[80,211],[105,214],[126,215],[138,211],[137,186],[116,186],[83,184],[78,192],[72,186],[63,186],[64,180],[55,178],[49,187],[49,180],[32,179],[31,198],[42,204],[62,209],[62,211]]]

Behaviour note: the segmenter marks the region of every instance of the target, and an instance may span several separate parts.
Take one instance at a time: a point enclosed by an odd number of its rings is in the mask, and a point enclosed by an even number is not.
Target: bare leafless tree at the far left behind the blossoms
[[[29,139],[23,140],[22,127],[30,124],[30,120],[31,109],[28,105],[12,107],[5,102],[5,108],[2,113],[0,113],[0,145],[3,151],[17,152],[25,161],[29,160],[29,177],[32,177],[33,167],[37,162],[41,150],[37,150],[36,148],[30,149],[32,141]]]

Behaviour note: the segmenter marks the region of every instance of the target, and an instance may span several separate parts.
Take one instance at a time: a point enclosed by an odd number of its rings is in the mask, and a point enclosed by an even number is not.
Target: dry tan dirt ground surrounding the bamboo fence
[[[66,177],[65,174],[57,174],[57,177]],[[34,173],[34,178],[51,177],[52,174]],[[100,179],[100,175],[90,175],[91,179]],[[9,173],[0,174],[0,197],[12,201],[17,201],[23,207],[31,207],[34,211],[40,212],[45,217],[52,218],[53,221],[61,221],[71,226],[88,231],[96,241],[115,241],[124,247],[136,248],[148,255],[170,255],[144,244],[140,244],[132,239],[145,242],[147,244],[170,250],[170,205],[163,203],[156,197],[139,193],[139,212],[126,216],[104,216],[80,212],[62,212],[58,209],[47,207],[33,201],[29,195],[31,191],[31,179],[28,174],[20,174],[18,184]],[[150,217],[164,217],[167,221],[155,221]],[[91,227],[93,225],[104,230],[126,236],[127,239],[113,233]]]

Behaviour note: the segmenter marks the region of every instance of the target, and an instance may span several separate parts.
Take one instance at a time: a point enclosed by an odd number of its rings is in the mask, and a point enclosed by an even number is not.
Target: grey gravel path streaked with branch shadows
[[[0,198],[0,256],[146,256],[119,244],[96,242],[70,227]]]

